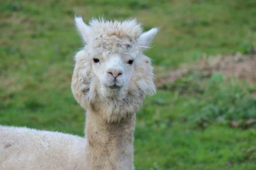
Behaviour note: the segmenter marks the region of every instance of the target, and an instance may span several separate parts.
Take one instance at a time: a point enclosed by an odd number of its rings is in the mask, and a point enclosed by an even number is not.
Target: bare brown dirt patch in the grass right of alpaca
[[[159,68],[156,68],[159,71]],[[256,84],[256,54],[243,55],[239,52],[233,55],[206,55],[198,60],[196,64],[182,64],[180,69],[171,70],[164,76],[155,77],[155,85],[157,88],[162,87],[166,81],[174,82],[187,72],[202,71],[203,74],[221,73],[225,77],[237,77],[244,79],[248,83]]]

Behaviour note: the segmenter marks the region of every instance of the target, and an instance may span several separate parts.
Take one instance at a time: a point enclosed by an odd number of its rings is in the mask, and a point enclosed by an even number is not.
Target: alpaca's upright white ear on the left
[[[90,40],[90,27],[86,25],[82,19],[82,17],[76,17],[75,18],[77,31],[80,33],[80,35],[83,37],[83,40],[85,43],[89,43]]]

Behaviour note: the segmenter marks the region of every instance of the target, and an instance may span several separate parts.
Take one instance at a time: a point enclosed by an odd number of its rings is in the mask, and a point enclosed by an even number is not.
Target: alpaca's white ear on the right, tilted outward
[[[140,35],[138,38],[139,46],[144,50],[145,48],[149,48],[151,41],[154,39],[158,32],[157,28],[152,28],[149,31],[146,31]]]

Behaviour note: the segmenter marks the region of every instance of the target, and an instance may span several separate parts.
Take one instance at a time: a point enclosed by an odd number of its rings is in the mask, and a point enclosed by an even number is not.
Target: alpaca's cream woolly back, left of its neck
[[[0,169],[74,170],[85,146],[86,140],[76,135],[0,126]]]

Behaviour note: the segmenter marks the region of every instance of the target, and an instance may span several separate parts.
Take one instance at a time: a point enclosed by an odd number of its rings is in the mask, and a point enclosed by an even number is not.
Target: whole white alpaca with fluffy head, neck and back
[[[135,20],[76,18],[86,46],[75,56],[72,92],[87,110],[85,138],[0,126],[1,170],[133,170],[136,111],[156,92],[143,55],[157,33]]]

